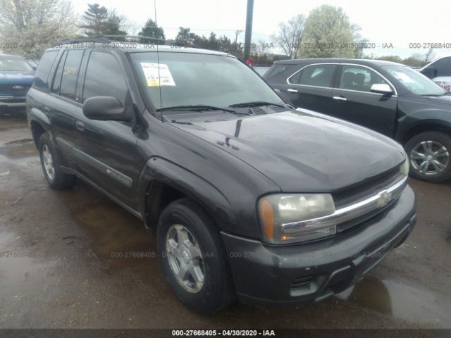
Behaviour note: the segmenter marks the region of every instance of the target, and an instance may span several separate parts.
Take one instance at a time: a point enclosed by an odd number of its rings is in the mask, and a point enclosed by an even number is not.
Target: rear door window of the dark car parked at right
[[[296,73],[288,82],[315,87],[331,87],[336,65],[308,65]]]

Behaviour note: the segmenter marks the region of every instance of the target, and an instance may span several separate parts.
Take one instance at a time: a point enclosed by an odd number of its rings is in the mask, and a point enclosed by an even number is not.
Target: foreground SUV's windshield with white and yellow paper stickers
[[[160,52],[158,58],[156,52],[137,52],[131,57],[156,108],[225,108],[254,101],[283,104],[256,73],[236,58],[171,52]]]

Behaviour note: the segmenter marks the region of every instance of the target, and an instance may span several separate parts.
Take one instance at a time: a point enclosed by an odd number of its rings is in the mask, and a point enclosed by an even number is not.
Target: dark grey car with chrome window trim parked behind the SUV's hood
[[[388,61],[305,59],[277,61],[263,77],[290,104],[400,142],[412,177],[450,179],[451,96],[416,70]]]

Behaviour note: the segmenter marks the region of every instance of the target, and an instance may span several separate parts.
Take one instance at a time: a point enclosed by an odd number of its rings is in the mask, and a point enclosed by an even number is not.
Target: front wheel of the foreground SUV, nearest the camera
[[[211,314],[235,299],[221,235],[197,204],[190,199],[179,199],[169,204],[160,215],[156,239],[166,280],[185,306],[199,313]],[[199,252],[202,257],[198,256]],[[190,264],[192,270],[188,269],[186,274],[180,272],[183,266],[185,271]],[[179,275],[185,275],[185,282],[177,277],[177,268]],[[202,276],[203,282],[200,283],[202,278],[199,277]]]

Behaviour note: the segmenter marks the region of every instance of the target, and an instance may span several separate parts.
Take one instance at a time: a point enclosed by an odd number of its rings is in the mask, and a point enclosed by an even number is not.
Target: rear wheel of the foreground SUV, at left
[[[49,183],[49,186],[56,190],[73,187],[77,177],[61,171],[54,145],[50,141],[47,132],[39,137],[38,149],[39,158],[41,158],[42,171],[44,172],[44,177],[47,180],[47,183]]]

